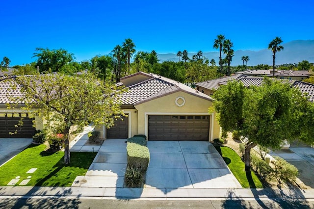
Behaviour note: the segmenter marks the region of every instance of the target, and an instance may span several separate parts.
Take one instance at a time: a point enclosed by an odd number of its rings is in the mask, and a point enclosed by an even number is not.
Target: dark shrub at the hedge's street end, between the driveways
[[[140,165],[131,165],[125,173],[125,183],[128,187],[141,187],[143,183],[143,174]]]

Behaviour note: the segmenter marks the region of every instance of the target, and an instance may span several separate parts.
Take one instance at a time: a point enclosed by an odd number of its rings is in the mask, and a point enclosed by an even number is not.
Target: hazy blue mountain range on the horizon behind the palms
[[[309,62],[314,63],[314,40],[296,40],[282,44],[282,46],[284,47],[284,50],[276,53],[276,65],[286,63],[293,64],[301,62],[302,60],[308,60]],[[191,58],[194,54],[196,53],[188,53],[188,56]],[[158,53],[157,55],[160,62],[179,61],[179,57],[175,53]],[[218,65],[219,51],[203,52],[203,56],[209,60],[214,59],[216,61],[216,65]],[[235,56],[232,59],[233,61],[231,62],[231,65],[242,65],[242,56],[249,56],[249,66],[258,64],[272,65],[272,52],[268,49],[262,49],[259,51],[237,50],[235,51]],[[222,58],[224,57],[225,55],[222,54]]]

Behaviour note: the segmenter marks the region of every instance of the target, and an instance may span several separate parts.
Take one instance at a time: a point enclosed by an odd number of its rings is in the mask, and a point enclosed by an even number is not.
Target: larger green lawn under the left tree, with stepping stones
[[[6,186],[12,179],[20,176],[19,185],[30,177],[26,186],[71,186],[77,176],[84,176],[97,153],[71,152],[71,163],[66,166],[64,152],[46,152],[45,145],[31,144],[0,167],[0,186]],[[26,173],[37,168],[34,173]]]

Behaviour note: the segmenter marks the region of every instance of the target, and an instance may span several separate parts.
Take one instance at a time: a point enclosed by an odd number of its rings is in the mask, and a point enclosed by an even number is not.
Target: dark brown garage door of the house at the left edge
[[[16,128],[23,117],[23,126]],[[34,118],[28,118],[26,113],[1,113],[0,116],[0,138],[31,138],[35,134],[33,127]],[[9,134],[9,132],[15,132]]]

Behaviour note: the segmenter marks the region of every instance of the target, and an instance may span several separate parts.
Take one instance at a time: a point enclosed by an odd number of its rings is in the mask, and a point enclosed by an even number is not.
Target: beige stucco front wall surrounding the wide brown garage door
[[[182,107],[176,105],[176,98],[183,97],[185,104]],[[179,101],[182,102],[182,101]],[[180,103],[182,104],[182,103]],[[193,96],[186,92],[175,92],[146,103],[135,105],[138,110],[138,134],[148,135],[149,114],[182,114],[182,115],[209,115],[208,108],[212,102],[200,97]],[[133,123],[132,123],[133,125]],[[219,138],[219,125],[215,120],[215,115],[210,115],[209,141]],[[149,136],[148,136],[149,139]]]

